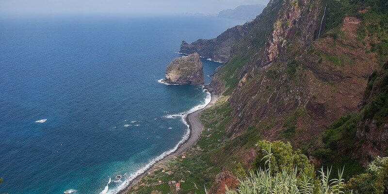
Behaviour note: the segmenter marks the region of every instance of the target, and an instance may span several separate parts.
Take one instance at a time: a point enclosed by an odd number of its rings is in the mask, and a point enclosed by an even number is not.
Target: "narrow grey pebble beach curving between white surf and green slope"
[[[202,129],[203,129],[202,122],[199,119],[199,114],[202,113],[202,111],[204,111],[208,107],[212,106],[215,103],[215,101],[218,99],[217,95],[213,95],[211,93],[210,93],[210,97],[211,97],[211,99],[210,99],[210,102],[208,105],[206,105],[204,108],[199,109],[199,110],[197,110],[193,113],[190,113],[186,116],[185,120],[189,125],[189,131],[190,131],[189,138],[185,142],[183,142],[181,145],[179,145],[177,150],[175,150],[171,154],[165,156],[160,161],[155,162],[146,171],[144,171],[142,174],[138,175],[136,178],[131,180],[129,182],[128,186],[126,186],[124,189],[119,191],[117,194],[126,194],[133,185],[137,184],[143,178],[143,176],[145,174],[154,170],[155,167],[157,167],[161,163],[166,162],[175,156],[181,155],[183,152],[185,152],[187,149],[189,149],[190,147],[194,146],[197,143],[197,141],[199,140],[199,138],[201,136]]]

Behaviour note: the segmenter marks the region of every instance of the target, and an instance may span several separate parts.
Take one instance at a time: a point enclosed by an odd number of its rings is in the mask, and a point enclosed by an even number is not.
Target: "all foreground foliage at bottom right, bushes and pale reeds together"
[[[366,173],[351,178],[345,184],[344,168],[337,175],[332,169],[323,167],[315,176],[307,157],[299,151],[292,152],[290,144],[280,141],[260,141],[256,160],[258,169],[249,176],[239,178],[237,189],[226,194],[387,194],[388,158],[377,157]],[[263,154],[264,153],[264,154]],[[307,162],[306,162],[307,160]],[[302,165],[303,164],[303,165]],[[333,178],[334,177],[334,178]]]

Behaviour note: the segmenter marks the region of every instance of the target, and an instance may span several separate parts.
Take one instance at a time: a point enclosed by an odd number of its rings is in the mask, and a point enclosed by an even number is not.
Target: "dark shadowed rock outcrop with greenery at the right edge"
[[[374,72],[360,103],[361,120],[357,124],[356,136],[361,149],[356,155],[363,164],[376,156],[386,156],[388,150],[388,62]],[[385,113],[382,114],[382,113]]]

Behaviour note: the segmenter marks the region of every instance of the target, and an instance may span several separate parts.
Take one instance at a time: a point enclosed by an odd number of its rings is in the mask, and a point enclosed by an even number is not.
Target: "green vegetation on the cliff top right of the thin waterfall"
[[[357,40],[366,35],[372,52],[379,54],[380,63],[388,59],[388,1],[387,0],[325,0],[325,36],[336,39],[340,34],[339,25],[345,16],[357,16],[362,19]]]

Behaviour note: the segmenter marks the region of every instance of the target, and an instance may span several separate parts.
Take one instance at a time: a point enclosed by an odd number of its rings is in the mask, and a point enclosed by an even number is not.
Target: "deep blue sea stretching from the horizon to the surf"
[[[167,115],[187,113],[208,97],[198,86],[158,82],[181,56],[180,42],[242,22],[0,18],[0,193],[115,193],[187,133],[181,118]],[[221,65],[203,63],[205,76]]]

